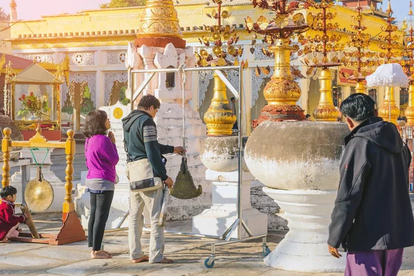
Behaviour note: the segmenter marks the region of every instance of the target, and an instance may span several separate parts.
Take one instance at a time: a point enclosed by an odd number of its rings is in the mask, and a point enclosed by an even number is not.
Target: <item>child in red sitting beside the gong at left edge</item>
[[[26,220],[28,214],[14,215],[14,201],[17,197],[17,189],[6,186],[0,190],[0,241],[8,242],[8,239],[19,236],[17,228]]]

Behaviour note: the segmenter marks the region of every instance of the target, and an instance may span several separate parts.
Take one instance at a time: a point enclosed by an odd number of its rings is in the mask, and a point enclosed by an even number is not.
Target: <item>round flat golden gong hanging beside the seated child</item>
[[[52,185],[45,179],[32,179],[24,191],[24,199],[30,210],[34,212],[43,212],[48,210],[53,202]]]

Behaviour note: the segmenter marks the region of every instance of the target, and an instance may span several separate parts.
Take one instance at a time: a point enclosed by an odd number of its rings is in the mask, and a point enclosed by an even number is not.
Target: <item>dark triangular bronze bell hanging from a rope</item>
[[[203,188],[201,185],[198,188],[195,187],[193,177],[188,171],[187,158],[183,157],[177,179],[175,179],[175,184],[171,188],[170,195],[177,199],[192,199],[199,197],[201,193],[203,193]]]

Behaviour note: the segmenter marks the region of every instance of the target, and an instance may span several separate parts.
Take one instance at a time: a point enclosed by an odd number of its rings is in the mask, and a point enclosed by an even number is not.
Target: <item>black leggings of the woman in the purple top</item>
[[[106,190],[101,194],[90,193],[88,245],[94,251],[101,250],[103,232],[105,231],[113,197],[113,190]]]

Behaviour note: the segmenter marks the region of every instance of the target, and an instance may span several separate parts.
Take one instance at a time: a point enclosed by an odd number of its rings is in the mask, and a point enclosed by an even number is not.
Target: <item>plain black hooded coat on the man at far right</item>
[[[395,125],[368,118],[345,145],[328,244],[351,252],[414,246],[411,152]]]

